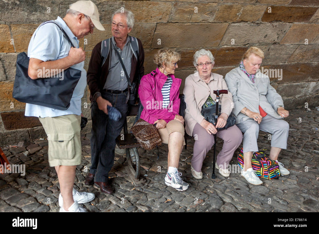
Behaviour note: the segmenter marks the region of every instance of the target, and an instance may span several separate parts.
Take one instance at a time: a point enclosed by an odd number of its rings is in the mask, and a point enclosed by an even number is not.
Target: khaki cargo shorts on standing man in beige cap
[[[79,115],[39,117],[48,135],[48,160],[50,167],[76,166],[82,160]]]

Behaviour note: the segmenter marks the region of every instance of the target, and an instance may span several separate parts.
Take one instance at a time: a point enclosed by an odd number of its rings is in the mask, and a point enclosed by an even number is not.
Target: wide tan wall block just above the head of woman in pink
[[[153,37],[152,48],[174,48],[174,47],[214,47],[218,46],[222,39],[227,23],[167,23],[157,24]],[[185,38],[185,32],[192,32],[196,37]],[[205,34],[203,32],[214,32],[214,34]],[[181,38],[185,38],[181,40]],[[159,43],[160,39],[160,45]]]

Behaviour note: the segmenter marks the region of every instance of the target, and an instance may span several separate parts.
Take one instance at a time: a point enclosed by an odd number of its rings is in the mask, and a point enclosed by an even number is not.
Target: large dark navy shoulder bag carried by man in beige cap
[[[54,21],[46,21],[42,25],[47,23],[56,24],[71,43],[71,46],[74,47],[60,25]],[[67,110],[69,108],[73,91],[81,78],[80,70],[69,67],[53,77],[32,80],[28,76],[29,58],[25,52],[18,54],[16,66],[16,77],[12,92],[13,98],[19,102],[57,110]],[[44,73],[45,71],[42,71],[42,74]]]

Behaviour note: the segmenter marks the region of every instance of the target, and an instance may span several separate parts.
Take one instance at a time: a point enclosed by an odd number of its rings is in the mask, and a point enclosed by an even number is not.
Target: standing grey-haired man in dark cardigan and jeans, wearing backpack
[[[91,163],[85,184],[95,183],[102,193],[112,194],[108,172],[114,164],[115,139],[121,133],[130,101],[136,101],[138,83],[144,75],[144,50],[139,39],[128,36],[134,26],[131,11],[113,13],[112,37],[99,42],[92,51],[87,71],[91,101]],[[119,110],[115,121],[108,116],[108,106]]]

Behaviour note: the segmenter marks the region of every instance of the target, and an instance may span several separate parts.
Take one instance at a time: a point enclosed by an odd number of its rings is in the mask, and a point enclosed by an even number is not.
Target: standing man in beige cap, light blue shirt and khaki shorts
[[[75,169],[82,158],[81,97],[86,87],[86,72],[83,68],[85,52],[83,48],[79,48],[78,39],[93,33],[94,27],[102,31],[105,29],[99,21],[98,9],[91,1],[77,1],[71,4],[65,17],[58,17],[54,22],[41,24],[32,35],[28,47],[28,75],[34,80],[41,79],[44,77],[39,77],[38,70],[52,71],[72,67],[81,70],[81,78],[73,91],[67,110],[27,103],[25,115],[39,117],[48,135],[48,161],[50,167],[55,167],[60,183],[60,212],[86,212],[78,203],[92,201],[94,194],[80,193],[73,188]],[[71,43],[58,25],[68,35],[75,48],[71,47]]]

